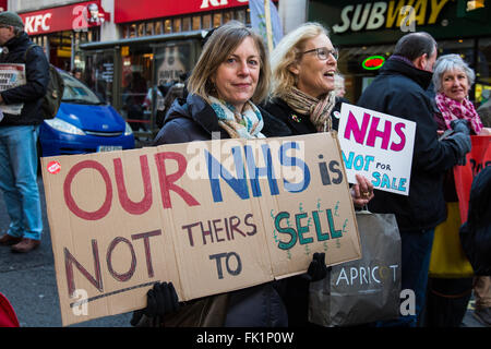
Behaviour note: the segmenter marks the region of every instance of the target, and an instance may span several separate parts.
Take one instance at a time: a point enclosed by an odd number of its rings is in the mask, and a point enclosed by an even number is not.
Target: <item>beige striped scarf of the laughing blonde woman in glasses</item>
[[[331,111],[336,103],[334,92],[330,92],[323,99],[318,99],[301,92],[297,87],[291,87],[290,93],[282,96],[287,105],[301,115],[310,116],[310,122],[318,132],[326,132],[333,129]]]

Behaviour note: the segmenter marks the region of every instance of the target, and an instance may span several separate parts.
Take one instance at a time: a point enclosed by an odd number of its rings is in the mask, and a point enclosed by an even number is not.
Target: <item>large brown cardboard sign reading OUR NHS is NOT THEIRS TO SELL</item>
[[[63,325],[361,257],[337,139],[224,140],[43,158]]]

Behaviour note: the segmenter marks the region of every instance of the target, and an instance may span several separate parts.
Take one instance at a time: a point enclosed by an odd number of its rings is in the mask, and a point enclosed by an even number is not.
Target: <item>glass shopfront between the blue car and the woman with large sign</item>
[[[172,39],[173,38],[173,39]],[[120,40],[107,47],[83,45],[84,80],[111,104],[146,144],[158,132],[155,119],[163,111],[158,86],[182,82],[197,60],[201,33]],[[97,47],[97,44],[95,44]]]

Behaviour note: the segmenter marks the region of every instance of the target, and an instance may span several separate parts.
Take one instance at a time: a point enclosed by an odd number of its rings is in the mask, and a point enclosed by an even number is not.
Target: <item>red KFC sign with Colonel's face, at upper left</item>
[[[100,7],[100,0],[19,14],[28,35],[62,31],[86,31],[109,20],[109,13]]]

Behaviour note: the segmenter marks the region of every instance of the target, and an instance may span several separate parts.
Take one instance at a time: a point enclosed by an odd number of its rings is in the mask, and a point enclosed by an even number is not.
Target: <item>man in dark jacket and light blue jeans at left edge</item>
[[[0,188],[10,216],[9,230],[0,237],[0,244],[25,253],[39,245],[43,231],[36,145],[49,64],[43,49],[33,46],[16,13],[0,13],[0,71],[24,65],[26,80],[0,92]]]

